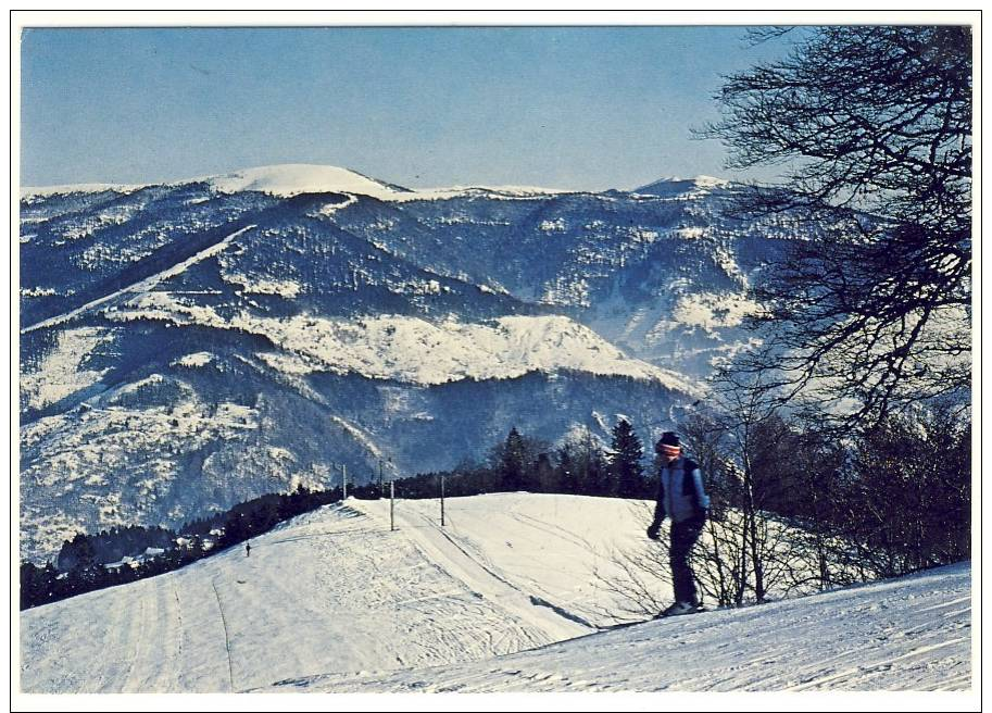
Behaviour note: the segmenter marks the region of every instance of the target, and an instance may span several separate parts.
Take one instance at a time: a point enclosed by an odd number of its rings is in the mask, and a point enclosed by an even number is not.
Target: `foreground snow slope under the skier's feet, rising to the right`
[[[970,606],[933,600],[970,588],[967,564],[849,590],[649,622],[498,660],[386,678],[325,676],[335,692],[967,690]],[[879,610],[888,610],[880,616]]]

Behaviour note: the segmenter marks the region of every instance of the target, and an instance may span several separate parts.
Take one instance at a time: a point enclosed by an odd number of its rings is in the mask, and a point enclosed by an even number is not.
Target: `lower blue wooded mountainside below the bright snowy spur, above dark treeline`
[[[435,386],[294,373],[282,361],[300,358],[262,335],[167,324],[65,330],[22,380],[53,402],[21,427],[22,556],[51,558],[76,531],[175,527],[300,483],[330,487],[331,462],[357,483],[380,458],[390,473],[451,467],[507,424],[549,441],[576,423],[606,438],[598,413],[654,423],[681,398],[657,380],[575,371]],[[76,371],[80,345],[92,353]]]

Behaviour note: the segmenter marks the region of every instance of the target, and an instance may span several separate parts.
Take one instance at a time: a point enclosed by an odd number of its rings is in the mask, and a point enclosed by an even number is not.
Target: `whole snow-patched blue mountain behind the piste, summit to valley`
[[[341,465],[450,468],[512,426],[606,440],[623,413],[654,438],[746,343],[745,288],[796,236],[730,217],[734,190],[424,191],[287,165],[25,191],[22,554]]]

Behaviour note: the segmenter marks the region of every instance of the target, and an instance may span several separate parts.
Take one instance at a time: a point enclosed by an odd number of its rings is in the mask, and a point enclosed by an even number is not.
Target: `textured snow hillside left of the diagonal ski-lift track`
[[[25,612],[22,688],[226,692],[487,659],[589,630],[532,605],[415,510],[390,533],[381,506],[317,511],[252,540],[250,558],[235,547]]]

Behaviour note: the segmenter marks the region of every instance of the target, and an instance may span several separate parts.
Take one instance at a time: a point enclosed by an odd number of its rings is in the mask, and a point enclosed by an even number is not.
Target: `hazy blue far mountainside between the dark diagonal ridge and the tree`
[[[653,190],[359,201],[334,221],[431,272],[563,311],[639,359],[705,376],[748,338],[741,321],[758,309],[748,285],[808,227],[732,217],[738,188],[726,182]]]

